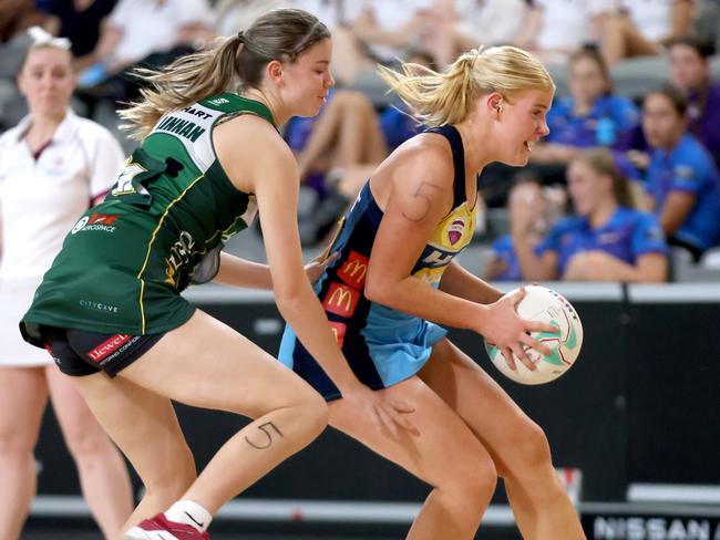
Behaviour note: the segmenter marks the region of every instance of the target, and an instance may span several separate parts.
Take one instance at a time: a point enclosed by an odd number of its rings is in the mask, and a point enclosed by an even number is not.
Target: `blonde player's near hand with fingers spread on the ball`
[[[516,305],[525,297],[525,288],[517,292],[504,295],[497,302],[487,307],[481,334],[488,343],[500,349],[505,362],[511,370],[516,371],[515,356],[520,359],[528,370],[535,370],[535,363],[527,355],[529,349],[534,349],[544,356],[552,354],[552,351],[529,335],[529,332],[556,333],[557,329],[547,322],[525,321],[517,315]]]

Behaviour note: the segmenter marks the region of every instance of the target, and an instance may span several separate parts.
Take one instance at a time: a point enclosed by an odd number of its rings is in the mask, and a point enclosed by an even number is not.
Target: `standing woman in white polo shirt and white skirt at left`
[[[114,181],[112,135],[70,110],[70,43],[31,29],[18,84],[30,114],[0,137],[0,538],[17,540],[35,492],[33,448],[50,396],[83,495],[106,539],[133,509],[125,464],[70,380],[18,329],[62,239]]]

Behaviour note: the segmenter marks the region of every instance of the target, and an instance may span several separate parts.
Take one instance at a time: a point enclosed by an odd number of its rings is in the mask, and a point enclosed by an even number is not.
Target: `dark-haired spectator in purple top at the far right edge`
[[[693,38],[677,38],[668,45],[670,80],[686,92],[688,131],[720,164],[720,84],[710,81],[712,48]]]

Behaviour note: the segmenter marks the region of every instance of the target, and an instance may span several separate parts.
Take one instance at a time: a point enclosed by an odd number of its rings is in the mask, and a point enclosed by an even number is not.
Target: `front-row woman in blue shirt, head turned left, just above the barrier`
[[[631,207],[628,180],[605,148],[578,154],[567,170],[576,216],[534,245],[534,202],[518,201],[511,230],[523,280],[661,282],[667,243],[657,218]]]

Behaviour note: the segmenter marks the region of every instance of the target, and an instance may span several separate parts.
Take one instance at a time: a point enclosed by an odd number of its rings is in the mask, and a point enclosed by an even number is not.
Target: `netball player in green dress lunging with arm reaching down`
[[[304,270],[297,165],[277,127],[317,114],[333,84],[330,55],[313,15],[276,10],[145,73],[151,89],[124,113],[142,144],[104,202],[68,235],[21,323],[145,484],[127,539],[207,538],[223,503],[327,422],[321,396],[299,376],[181,297],[191,282],[272,288],[282,316],[359,414],[391,430],[404,423],[400,404],[352,374]],[[239,95],[229,92],[236,80]],[[256,212],[269,271],[220,253]],[[196,477],[171,399],[255,420]]]

